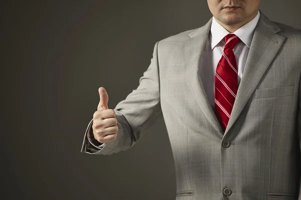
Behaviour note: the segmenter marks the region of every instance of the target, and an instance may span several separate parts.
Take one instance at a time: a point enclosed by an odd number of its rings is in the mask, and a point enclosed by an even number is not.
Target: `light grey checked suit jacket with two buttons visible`
[[[139,86],[114,108],[117,139],[99,150],[85,135],[82,152],[126,150],[163,114],[175,161],[177,200],[297,199],[301,31],[261,12],[223,132],[198,70],[211,22],[156,43]],[[93,131],[92,122],[86,134]]]

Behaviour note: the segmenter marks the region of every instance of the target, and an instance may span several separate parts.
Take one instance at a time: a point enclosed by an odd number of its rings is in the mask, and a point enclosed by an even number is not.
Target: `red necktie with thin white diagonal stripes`
[[[215,71],[215,114],[225,131],[237,93],[237,65],[233,48],[239,37],[228,34],[224,39],[223,55]]]

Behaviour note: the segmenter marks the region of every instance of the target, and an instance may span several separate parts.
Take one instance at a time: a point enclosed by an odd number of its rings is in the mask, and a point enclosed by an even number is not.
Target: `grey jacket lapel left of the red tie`
[[[182,43],[181,59],[187,69],[184,78],[194,98],[198,102],[208,121],[220,133],[219,136],[222,137],[222,127],[209,103],[199,76],[199,60],[209,36],[211,23],[212,18],[203,27],[198,28],[189,34],[191,38]]]

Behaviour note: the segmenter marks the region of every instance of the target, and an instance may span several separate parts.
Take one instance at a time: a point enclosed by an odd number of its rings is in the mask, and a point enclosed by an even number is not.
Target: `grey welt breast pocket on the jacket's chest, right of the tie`
[[[255,98],[271,98],[281,96],[291,96],[294,85],[283,87],[260,88],[255,91]]]

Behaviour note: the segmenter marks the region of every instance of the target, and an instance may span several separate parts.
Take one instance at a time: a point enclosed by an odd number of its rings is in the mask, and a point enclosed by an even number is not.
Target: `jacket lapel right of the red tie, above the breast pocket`
[[[275,34],[279,30],[275,23],[260,12],[225,134],[233,126],[281,47],[285,37]]]

